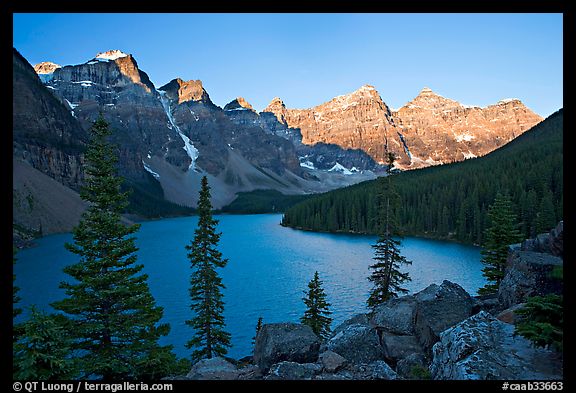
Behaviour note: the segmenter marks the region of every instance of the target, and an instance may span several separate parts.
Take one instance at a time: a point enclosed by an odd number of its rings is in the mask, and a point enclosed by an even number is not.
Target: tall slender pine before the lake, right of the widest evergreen
[[[195,330],[187,348],[198,348],[192,352],[196,362],[213,356],[223,356],[230,347],[230,333],[224,330],[224,301],[221,290],[225,288],[216,268],[223,268],[228,259],[222,258],[217,246],[221,233],[216,232],[218,220],[212,216],[210,186],[206,176],[202,177],[198,199],[198,227],[194,239],[186,246],[192,265],[190,277],[191,310],[194,318],[186,324]]]

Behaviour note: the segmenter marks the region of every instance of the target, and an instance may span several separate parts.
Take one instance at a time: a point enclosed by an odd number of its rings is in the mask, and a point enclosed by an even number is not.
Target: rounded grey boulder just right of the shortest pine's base
[[[349,325],[333,336],[326,347],[356,364],[384,357],[376,329],[367,325]]]

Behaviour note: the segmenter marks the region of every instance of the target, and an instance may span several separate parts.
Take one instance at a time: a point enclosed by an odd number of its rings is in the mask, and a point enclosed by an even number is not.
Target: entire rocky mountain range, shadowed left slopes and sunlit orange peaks
[[[100,113],[114,131],[119,174],[129,184],[193,207],[206,175],[216,208],[242,191],[307,194],[373,179],[384,169],[386,148],[397,153],[400,169],[480,156],[541,120],[518,100],[465,107],[429,89],[392,111],[369,85],[310,109],[289,109],[275,98],[257,112],[242,97],[221,108],[200,80],[155,87],[119,50],[76,65],[32,67],[14,49],[13,79],[13,155],[18,168],[30,167],[15,171],[28,176],[14,181],[26,184],[15,190],[20,200],[42,199],[30,190],[51,184],[43,176],[77,195],[88,130]],[[18,212],[30,228],[33,212]],[[33,227],[50,227],[44,213]]]

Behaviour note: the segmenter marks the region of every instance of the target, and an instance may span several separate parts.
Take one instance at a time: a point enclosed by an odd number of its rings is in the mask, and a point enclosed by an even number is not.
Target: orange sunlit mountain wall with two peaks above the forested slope
[[[542,118],[520,100],[486,108],[465,106],[428,88],[398,111],[391,111],[370,85],[310,109],[287,109],[275,98],[264,112],[297,129],[302,142],[333,143],[395,166],[414,169],[485,155],[536,125]]]

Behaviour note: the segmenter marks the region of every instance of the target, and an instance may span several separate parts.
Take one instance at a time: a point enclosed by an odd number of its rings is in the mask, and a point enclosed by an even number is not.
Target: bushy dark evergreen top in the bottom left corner
[[[31,308],[31,317],[22,324],[22,336],[14,350],[14,379],[58,380],[76,376],[70,358],[71,340],[59,321]]]

